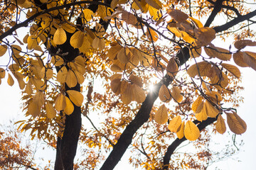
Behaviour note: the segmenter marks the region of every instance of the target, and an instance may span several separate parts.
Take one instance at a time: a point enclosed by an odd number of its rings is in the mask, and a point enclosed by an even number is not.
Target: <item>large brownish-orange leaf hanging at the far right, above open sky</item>
[[[237,135],[241,135],[246,131],[247,125],[245,121],[242,120],[237,113],[226,113],[226,115],[228,127],[232,132],[234,132]]]

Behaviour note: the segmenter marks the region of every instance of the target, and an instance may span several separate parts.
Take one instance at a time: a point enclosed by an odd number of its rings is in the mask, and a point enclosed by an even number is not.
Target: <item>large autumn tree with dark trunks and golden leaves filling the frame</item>
[[[130,145],[144,154],[131,159],[135,166],[174,169],[171,155],[178,145],[185,140],[205,144],[209,125],[223,134],[223,115],[230,130],[242,134],[247,127],[235,110],[242,101],[235,96],[242,89],[240,70],[230,59],[256,70],[256,53],[243,50],[256,45],[251,4],[1,1],[0,56],[8,59],[1,63],[0,78],[8,74],[10,86],[15,78],[23,92],[28,120],[18,121],[21,130],[56,142],[55,169],[73,169],[79,137],[92,148],[82,163],[86,169],[98,162],[104,162],[100,169],[114,169]],[[225,19],[214,23],[220,14]],[[235,50],[211,43],[228,36]],[[104,91],[93,93],[99,81]],[[85,102],[81,92],[87,92]],[[154,105],[157,98],[160,104]],[[233,107],[225,108],[226,103]],[[96,112],[103,113],[97,117],[100,130],[90,118]],[[93,131],[81,130],[82,115]],[[107,159],[93,156],[102,150],[111,150]],[[203,161],[209,157],[210,152],[200,153]],[[188,163],[194,169],[204,166]]]

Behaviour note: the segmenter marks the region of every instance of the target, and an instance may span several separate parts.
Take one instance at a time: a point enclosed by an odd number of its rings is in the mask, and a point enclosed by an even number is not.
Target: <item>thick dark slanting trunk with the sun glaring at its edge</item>
[[[177,55],[179,60],[179,65],[184,64],[189,59],[189,50],[188,47],[184,47]],[[159,89],[162,84],[169,86],[170,82],[173,79],[169,77],[167,74],[162,79],[161,82],[154,86],[154,91],[150,91],[149,94],[146,96],[145,101],[142,103],[142,107],[139,109],[137,115],[135,116],[134,120],[132,120],[127,128],[124,130],[122,135],[119,137],[117,144],[114,145],[112,152],[110,153],[109,157],[107,157],[105,163],[102,165],[101,170],[110,170],[114,169],[114,166],[117,165],[119,160],[121,159],[124,152],[127,150],[127,147],[132,143],[132,137],[134,136],[135,132],[139,130],[139,128],[149,120],[149,114],[151,112],[151,108],[156,101],[156,98],[159,96]]]

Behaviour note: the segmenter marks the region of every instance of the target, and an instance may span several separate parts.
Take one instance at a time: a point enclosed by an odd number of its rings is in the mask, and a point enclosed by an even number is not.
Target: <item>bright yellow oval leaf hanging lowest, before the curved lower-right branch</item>
[[[200,136],[200,131],[198,127],[193,123],[191,120],[188,120],[186,122],[185,128],[184,128],[184,135],[187,140],[197,140]]]

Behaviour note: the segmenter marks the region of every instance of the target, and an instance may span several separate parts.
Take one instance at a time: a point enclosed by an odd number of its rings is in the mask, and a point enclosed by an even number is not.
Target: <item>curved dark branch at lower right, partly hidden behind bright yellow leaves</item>
[[[198,129],[201,131],[206,126],[214,123],[217,120],[218,116],[216,118],[207,118],[206,120],[203,120],[201,123],[197,125]],[[194,120],[193,123],[198,123],[198,120]],[[169,168],[169,162],[171,159],[171,155],[174,154],[175,149],[181,145],[182,142],[186,141],[186,137],[183,137],[181,139],[176,139],[174,142],[171,143],[171,145],[168,147],[166,154],[164,155],[164,167],[163,169],[168,169]]]

